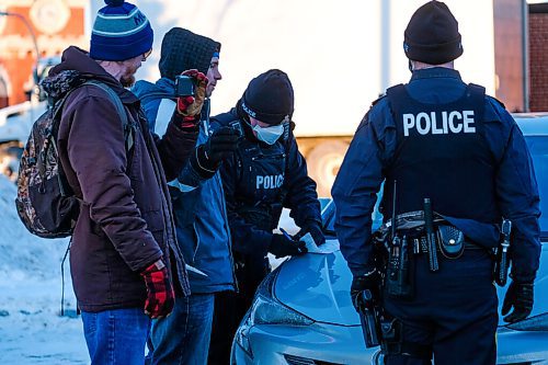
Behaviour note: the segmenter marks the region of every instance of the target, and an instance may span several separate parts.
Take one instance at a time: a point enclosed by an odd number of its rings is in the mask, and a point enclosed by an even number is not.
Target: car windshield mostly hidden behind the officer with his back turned
[[[540,212],[544,213],[539,219],[541,238],[548,239],[548,197],[543,198],[543,193],[548,190],[548,136],[526,136],[525,140],[533,158],[538,191],[540,193]],[[373,213],[374,229],[380,226],[383,220],[383,216],[378,213],[378,204],[379,201],[377,199],[377,205]],[[322,216],[326,232],[334,235],[334,204],[330,199],[322,202]]]

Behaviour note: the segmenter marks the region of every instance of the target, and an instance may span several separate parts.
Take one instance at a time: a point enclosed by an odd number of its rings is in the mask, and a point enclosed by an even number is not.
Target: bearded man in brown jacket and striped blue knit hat
[[[144,364],[150,318],[172,310],[171,267],[180,290],[190,292],[165,181],[176,178],[194,148],[207,79],[193,72],[197,96],[174,113],[162,139],[151,135],[139,100],[125,87],[150,54],[152,30],[137,7],[105,2],[90,53],[66,49],[44,87],[53,98],[76,88],[57,141],[68,184],[81,199],[70,266],[90,357],[92,364],[133,365]],[[114,91],[124,111],[107,89],[82,85],[88,80]]]

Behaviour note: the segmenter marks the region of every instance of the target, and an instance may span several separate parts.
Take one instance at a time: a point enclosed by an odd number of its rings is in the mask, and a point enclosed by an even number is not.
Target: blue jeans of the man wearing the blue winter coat
[[[205,365],[213,307],[214,294],[178,296],[171,315],[152,321],[147,364]]]

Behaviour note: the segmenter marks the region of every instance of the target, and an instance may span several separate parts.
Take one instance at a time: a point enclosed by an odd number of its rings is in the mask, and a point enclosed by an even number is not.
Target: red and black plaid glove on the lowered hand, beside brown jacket
[[[175,304],[175,293],[173,292],[168,267],[165,267],[162,260],[158,260],[140,274],[147,285],[145,313],[150,318],[168,316]]]

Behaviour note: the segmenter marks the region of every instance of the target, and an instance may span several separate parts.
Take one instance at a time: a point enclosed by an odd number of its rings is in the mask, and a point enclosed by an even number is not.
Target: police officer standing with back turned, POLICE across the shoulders
[[[332,190],[336,235],[354,275],[353,303],[357,308],[370,304],[361,296],[365,289],[380,303],[386,364],[431,364],[432,356],[442,365],[494,364],[498,299],[490,251],[498,246],[503,217],[513,224],[513,263],[502,315],[514,322],[533,308],[540,212],[530,156],[504,105],[483,88],[464,83],[454,69],[463,45],[445,3],[430,1],[416,10],[403,48],[410,82],[388,89],[374,103]],[[442,217],[436,217],[443,228],[438,237],[424,231],[403,237],[411,267],[407,280],[414,286],[406,295],[390,286],[391,273],[399,275],[390,272],[392,265],[401,267],[398,260],[388,261],[390,275],[378,290],[370,215],[383,182],[385,221],[392,213],[423,210],[425,198]],[[459,235],[444,240],[443,232],[463,232],[464,240]],[[425,241],[436,242],[433,250]],[[403,241],[384,242],[391,254],[403,251]],[[460,242],[464,251],[450,254]]]

